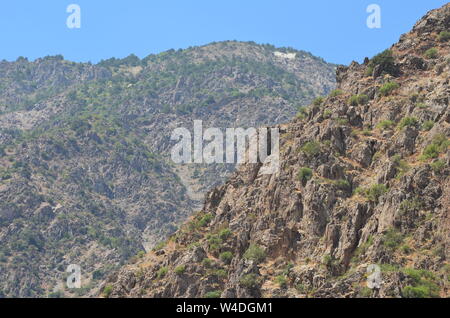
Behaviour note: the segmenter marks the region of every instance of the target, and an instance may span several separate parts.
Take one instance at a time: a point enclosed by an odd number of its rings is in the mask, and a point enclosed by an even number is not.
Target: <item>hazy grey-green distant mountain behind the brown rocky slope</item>
[[[221,42],[93,65],[0,62],[0,296],[80,296],[201,208],[234,166],[175,165],[175,128],[281,123],[336,66]],[[83,288],[65,288],[68,265]]]

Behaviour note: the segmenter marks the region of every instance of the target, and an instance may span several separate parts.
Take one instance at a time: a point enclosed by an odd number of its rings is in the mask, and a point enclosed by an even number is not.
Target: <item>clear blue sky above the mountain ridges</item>
[[[6,3],[7,2],[7,3]],[[361,61],[396,42],[445,0],[8,0],[0,4],[0,59],[63,54],[98,62],[134,53],[242,40],[290,46],[333,63]],[[81,29],[66,8],[81,7]],[[369,4],[382,28],[366,26]]]

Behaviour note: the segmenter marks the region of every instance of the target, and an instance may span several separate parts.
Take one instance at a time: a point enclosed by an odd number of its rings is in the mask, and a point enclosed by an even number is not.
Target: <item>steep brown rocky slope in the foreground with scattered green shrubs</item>
[[[448,297],[449,30],[447,4],[340,67],[337,91],[279,126],[278,174],[240,167],[101,295]]]

